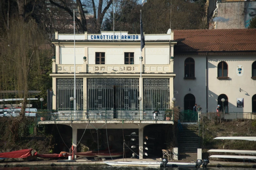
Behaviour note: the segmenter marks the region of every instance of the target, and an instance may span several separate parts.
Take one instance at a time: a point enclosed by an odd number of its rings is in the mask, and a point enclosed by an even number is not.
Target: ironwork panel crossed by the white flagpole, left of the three
[[[57,79],[57,108],[58,110],[74,109],[74,79]],[[76,79],[76,109],[83,109],[83,79]]]

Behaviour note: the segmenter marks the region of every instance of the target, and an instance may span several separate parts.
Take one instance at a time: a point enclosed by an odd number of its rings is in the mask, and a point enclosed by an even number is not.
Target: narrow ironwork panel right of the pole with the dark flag
[[[165,110],[170,103],[170,79],[143,79],[144,110]]]

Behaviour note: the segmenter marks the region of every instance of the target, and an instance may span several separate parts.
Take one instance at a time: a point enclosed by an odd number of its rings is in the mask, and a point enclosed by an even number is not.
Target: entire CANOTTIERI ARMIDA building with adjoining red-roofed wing
[[[206,113],[221,105],[226,118],[232,112],[256,112],[254,29],[174,30],[144,36],[141,52],[140,35],[77,34],[74,67],[74,35],[56,32],[51,76],[53,109],[58,113],[39,124],[71,126],[73,146],[77,129],[138,129],[143,159],[143,129],[174,124],[169,110],[173,106],[193,110],[197,103]],[[77,100],[76,111],[70,97]]]

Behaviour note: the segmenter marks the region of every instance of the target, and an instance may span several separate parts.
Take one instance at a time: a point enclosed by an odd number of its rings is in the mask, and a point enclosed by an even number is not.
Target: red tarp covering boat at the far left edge
[[[0,153],[0,158],[26,158],[32,156],[31,151],[33,149],[16,150],[12,152]]]

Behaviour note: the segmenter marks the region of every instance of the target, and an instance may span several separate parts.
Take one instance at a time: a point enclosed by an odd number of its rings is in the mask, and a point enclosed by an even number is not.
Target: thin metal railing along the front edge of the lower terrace
[[[169,111],[169,110],[168,110]],[[37,121],[69,121],[69,120],[139,120],[139,121],[173,121],[173,111],[154,110],[74,110],[38,112]]]

